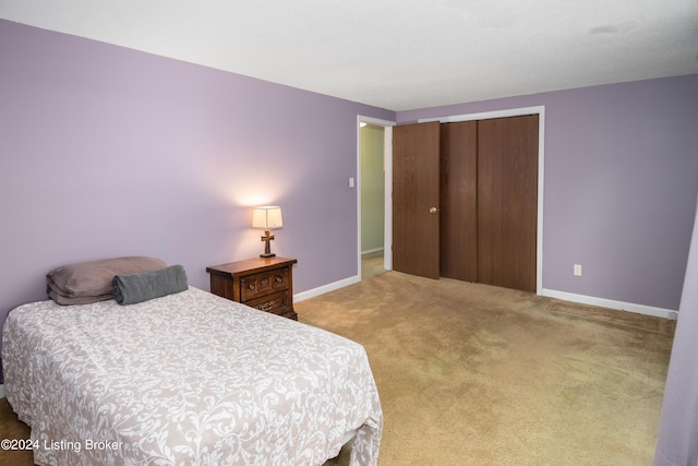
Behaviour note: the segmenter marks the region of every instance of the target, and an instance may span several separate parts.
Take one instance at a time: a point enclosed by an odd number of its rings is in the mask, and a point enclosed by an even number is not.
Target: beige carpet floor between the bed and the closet
[[[673,321],[397,272],[294,307],[365,346],[381,466],[652,463]]]

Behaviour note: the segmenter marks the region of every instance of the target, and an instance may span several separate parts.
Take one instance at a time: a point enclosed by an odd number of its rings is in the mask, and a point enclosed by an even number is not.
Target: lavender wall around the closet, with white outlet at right
[[[696,103],[698,75],[688,75],[397,119],[544,105],[543,288],[677,310],[698,190]]]

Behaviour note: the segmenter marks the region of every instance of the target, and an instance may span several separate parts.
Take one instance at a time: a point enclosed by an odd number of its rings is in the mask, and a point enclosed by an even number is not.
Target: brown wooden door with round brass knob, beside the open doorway
[[[438,278],[440,123],[393,128],[393,270]]]

